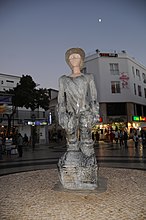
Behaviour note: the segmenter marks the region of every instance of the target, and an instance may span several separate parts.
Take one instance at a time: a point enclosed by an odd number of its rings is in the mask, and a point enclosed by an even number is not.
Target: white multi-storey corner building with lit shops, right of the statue
[[[103,124],[146,126],[146,67],[125,51],[99,50],[86,56],[84,67],[84,72],[94,74]]]

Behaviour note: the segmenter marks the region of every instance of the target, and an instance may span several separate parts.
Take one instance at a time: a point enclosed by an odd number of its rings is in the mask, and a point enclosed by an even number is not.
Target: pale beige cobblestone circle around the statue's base
[[[56,169],[0,177],[1,220],[145,220],[146,172],[100,168],[99,188],[65,191]]]

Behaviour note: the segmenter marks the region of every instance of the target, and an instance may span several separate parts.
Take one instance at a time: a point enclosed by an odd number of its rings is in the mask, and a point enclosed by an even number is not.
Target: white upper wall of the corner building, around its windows
[[[112,75],[110,73],[109,63],[119,64],[120,75]],[[141,78],[142,73],[146,74],[146,67],[143,67],[125,53],[119,54],[118,57],[99,57],[98,54],[94,54],[85,59],[87,73],[93,73],[95,76],[98,100],[100,103],[134,102],[146,105],[146,98],[144,97],[144,88],[146,88],[146,83],[143,83],[143,80],[140,81],[137,76],[134,78],[132,66],[134,66],[135,71],[136,69],[140,70]],[[128,87],[122,88],[121,86],[121,93],[112,94],[111,81],[120,81],[122,83],[122,81],[119,79],[122,72],[129,77]],[[138,96],[138,90],[137,95],[134,95],[134,83],[136,83],[137,86],[141,86],[143,97]]]

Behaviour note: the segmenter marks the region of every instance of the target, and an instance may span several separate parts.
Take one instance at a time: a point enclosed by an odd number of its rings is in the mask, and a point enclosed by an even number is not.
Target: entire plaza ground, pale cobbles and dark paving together
[[[50,146],[49,146],[50,147]],[[100,143],[94,191],[64,190],[57,161],[66,148],[38,146],[0,162],[1,220],[145,220],[145,149]],[[26,172],[27,171],[27,172]]]

